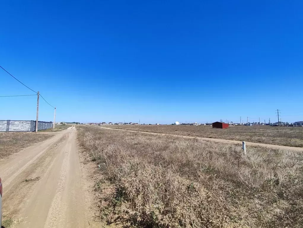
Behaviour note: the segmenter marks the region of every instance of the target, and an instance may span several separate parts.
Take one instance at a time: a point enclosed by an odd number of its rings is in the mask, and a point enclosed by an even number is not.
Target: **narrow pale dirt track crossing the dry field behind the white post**
[[[237,140],[226,140],[226,139],[214,139],[214,138],[202,138],[202,137],[195,137],[195,136],[186,136],[186,135],[173,135],[173,134],[163,134],[163,133],[154,133],[154,132],[145,132],[145,131],[133,131],[133,130],[124,130],[124,129],[115,129],[110,127],[101,127],[104,129],[110,129],[110,130],[117,130],[117,131],[130,131],[130,132],[140,132],[140,133],[146,133],[146,134],[154,134],[154,135],[170,135],[170,136],[176,136],[176,137],[182,137],[182,138],[197,138],[200,140],[207,140],[207,141],[213,141],[213,142],[220,142],[220,143],[232,143],[232,144],[241,144],[242,141]],[[265,143],[252,143],[252,142],[246,142],[247,146],[259,146],[259,147],[268,147],[273,149],[282,149],[282,150],[297,150],[302,151],[302,147],[288,147],[288,146],[280,146],[280,145],[273,145],[273,144],[265,144]]]

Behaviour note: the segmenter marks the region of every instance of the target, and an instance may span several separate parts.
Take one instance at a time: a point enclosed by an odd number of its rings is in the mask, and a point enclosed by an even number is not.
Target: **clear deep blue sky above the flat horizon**
[[[303,120],[302,1],[4,1],[0,65],[58,121]],[[32,92],[0,71],[0,96]],[[0,98],[35,119],[36,98]],[[53,108],[40,100],[39,119]]]

